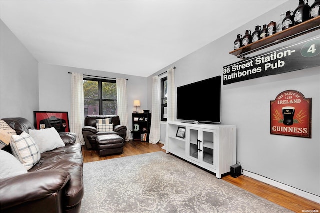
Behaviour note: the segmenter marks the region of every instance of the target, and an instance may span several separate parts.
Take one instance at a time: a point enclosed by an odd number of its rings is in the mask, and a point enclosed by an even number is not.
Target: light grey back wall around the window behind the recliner
[[[141,106],[138,107],[138,110],[148,109],[145,77],[39,63],[40,111],[67,111],[70,113],[71,74],[68,74],[68,72],[128,79],[126,81],[129,114],[128,129],[132,129],[132,113],[136,110],[136,107],[133,106],[133,100],[140,100]]]

